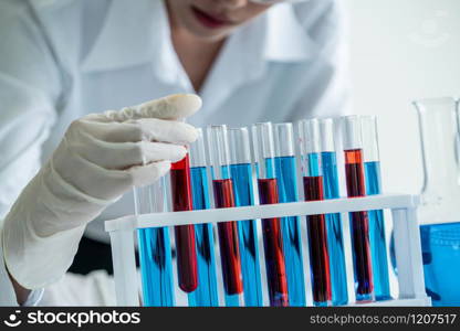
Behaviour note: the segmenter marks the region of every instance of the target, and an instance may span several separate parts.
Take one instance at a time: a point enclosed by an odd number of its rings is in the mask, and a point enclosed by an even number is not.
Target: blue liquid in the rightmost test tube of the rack
[[[381,193],[380,162],[365,162],[366,194]],[[373,263],[374,292],[376,299],[391,299],[387,263],[387,245],[385,241],[384,211],[369,211],[369,243]]]

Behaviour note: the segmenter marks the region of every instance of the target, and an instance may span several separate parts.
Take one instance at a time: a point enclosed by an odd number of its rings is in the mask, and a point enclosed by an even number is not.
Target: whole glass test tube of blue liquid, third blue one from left
[[[248,128],[228,130],[230,173],[237,206],[254,205],[253,175]],[[255,220],[238,222],[245,306],[263,305]]]

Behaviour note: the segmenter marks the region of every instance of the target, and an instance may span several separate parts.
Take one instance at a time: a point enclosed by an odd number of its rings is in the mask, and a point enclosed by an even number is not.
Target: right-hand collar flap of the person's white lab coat
[[[266,14],[240,26],[226,42],[202,88],[203,105],[217,110],[236,89],[263,78],[271,62],[304,62],[316,50],[293,7],[276,4]]]

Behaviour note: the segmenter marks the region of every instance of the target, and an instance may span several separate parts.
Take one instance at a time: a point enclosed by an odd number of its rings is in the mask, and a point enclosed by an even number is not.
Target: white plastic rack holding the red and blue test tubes
[[[431,300],[425,291],[420,233],[417,221],[419,203],[418,195],[384,194],[354,199],[140,214],[106,221],[105,231],[111,236],[117,305],[129,307],[140,305],[140,286],[135,261],[135,234],[138,228],[390,210],[398,267],[399,296],[393,300],[351,303],[351,306],[431,306]],[[306,235],[302,235],[305,238]],[[306,265],[305,261],[304,267]],[[309,269],[305,267],[305,273]]]

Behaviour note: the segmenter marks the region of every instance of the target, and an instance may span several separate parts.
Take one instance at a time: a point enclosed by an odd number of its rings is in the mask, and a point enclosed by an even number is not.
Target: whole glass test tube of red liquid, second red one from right
[[[318,120],[309,119],[300,121],[299,134],[301,138],[301,161],[305,201],[324,200]],[[310,215],[306,220],[313,303],[315,306],[331,306],[331,271],[325,216]]]

